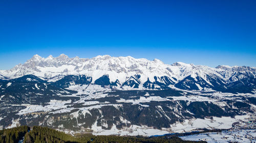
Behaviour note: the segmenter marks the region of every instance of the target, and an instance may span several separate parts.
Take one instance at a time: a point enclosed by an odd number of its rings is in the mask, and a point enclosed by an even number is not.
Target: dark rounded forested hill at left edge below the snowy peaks
[[[56,82],[55,84],[49,84],[46,80],[34,75],[25,75],[15,79],[1,80],[0,82],[1,100],[15,104],[40,104],[49,102],[50,97],[55,95],[77,93],[76,91],[59,88],[56,86]]]

